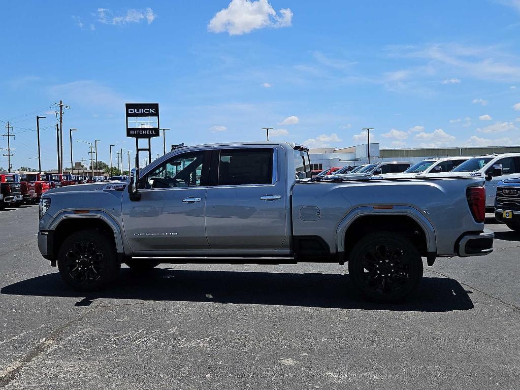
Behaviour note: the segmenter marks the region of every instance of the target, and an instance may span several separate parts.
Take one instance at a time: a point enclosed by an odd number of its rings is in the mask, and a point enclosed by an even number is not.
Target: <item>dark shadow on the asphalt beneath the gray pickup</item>
[[[433,312],[469,310],[474,307],[464,288],[450,278],[424,278],[412,300],[388,305],[363,301],[350,289],[348,275],[167,268],[154,269],[140,276],[128,268],[122,268],[114,285],[97,293],[72,290],[62,282],[58,273],[7,285],[0,293],[83,297],[76,306],[88,306],[98,298],[113,298]]]

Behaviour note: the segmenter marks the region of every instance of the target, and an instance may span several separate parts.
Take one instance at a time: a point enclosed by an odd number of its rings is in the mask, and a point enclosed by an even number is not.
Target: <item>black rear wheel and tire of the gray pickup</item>
[[[371,301],[404,300],[423,276],[421,254],[407,237],[380,231],[361,238],[350,252],[348,274],[354,289]]]

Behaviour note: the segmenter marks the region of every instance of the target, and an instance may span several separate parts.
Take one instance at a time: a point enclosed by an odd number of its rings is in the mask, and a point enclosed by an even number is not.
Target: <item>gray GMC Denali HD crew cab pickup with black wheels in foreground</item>
[[[393,302],[423,275],[422,257],[492,251],[484,178],[313,182],[308,149],[285,142],[184,147],[129,181],[47,191],[38,247],[81,290],[121,264],[348,262],[363,296]]]

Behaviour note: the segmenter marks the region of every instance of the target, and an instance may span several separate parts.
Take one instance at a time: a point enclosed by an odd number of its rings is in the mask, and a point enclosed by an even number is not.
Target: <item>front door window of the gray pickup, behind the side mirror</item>
[[[204,151],[177,154],[139,180],[140,188],[176,188],[205,185]]]

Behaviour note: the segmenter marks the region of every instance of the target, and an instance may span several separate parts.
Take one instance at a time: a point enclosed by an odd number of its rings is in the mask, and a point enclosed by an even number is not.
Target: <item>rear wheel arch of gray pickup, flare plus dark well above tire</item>
[[[375,208],[378,206],[362,206],[350,211],[336,230],[336,250],[348,257],[356,241],[368,232],[391,230],[414,233],[419,236],[414,242],[421,255],[437,252],[435,229],[431,222],[418,210],[410,206],[393,206],[393,208]]]

